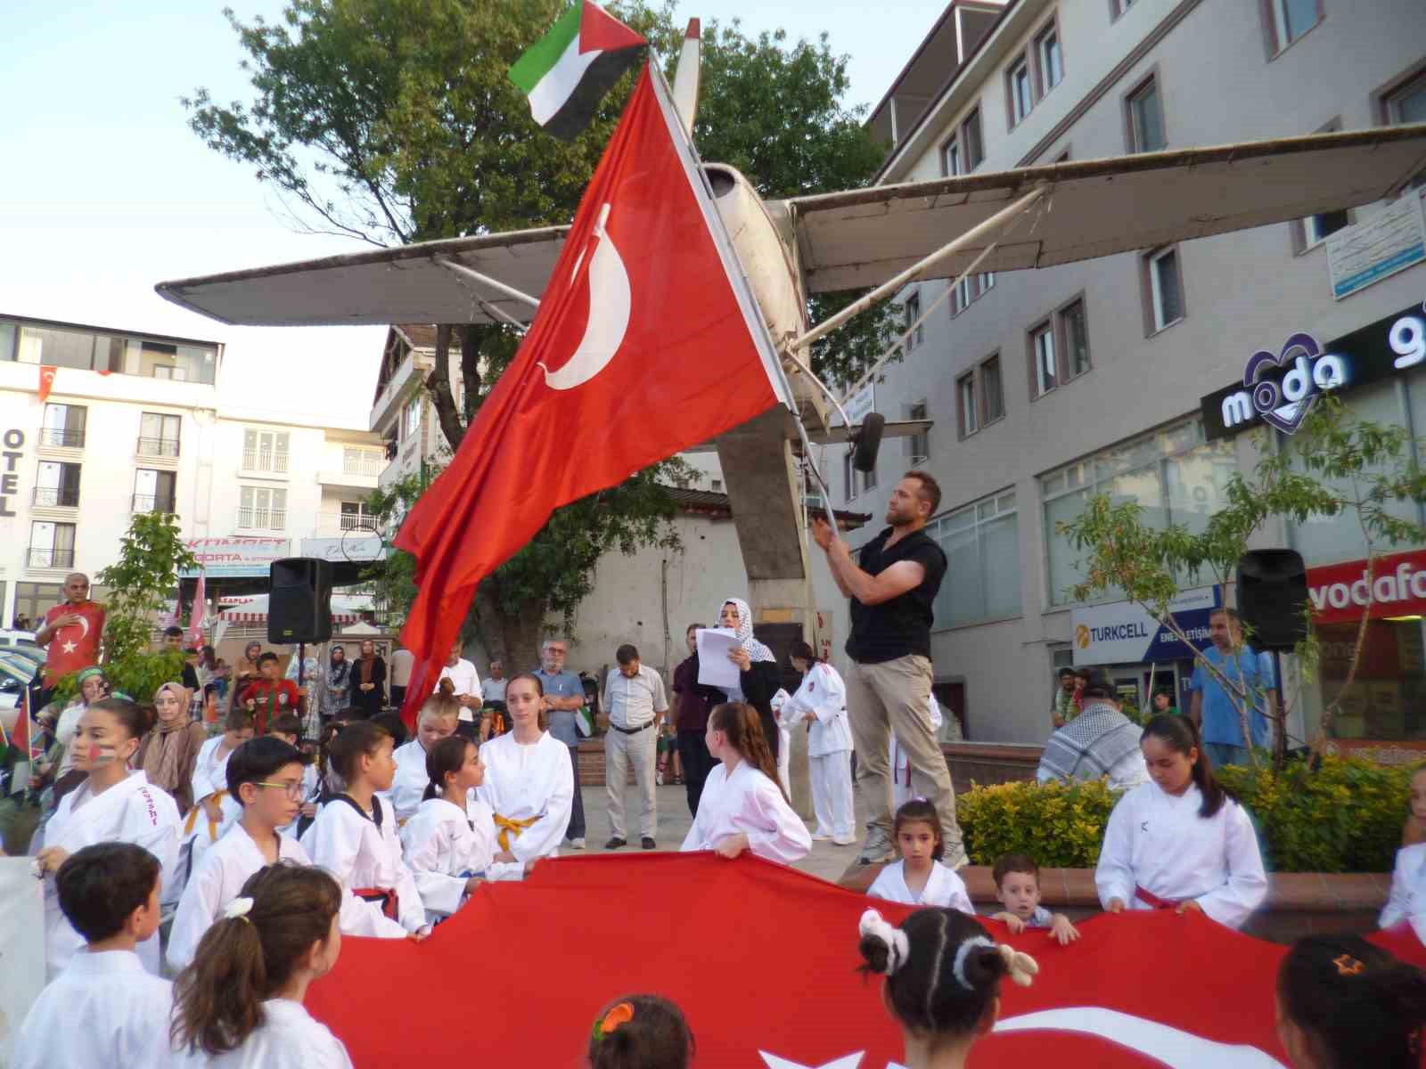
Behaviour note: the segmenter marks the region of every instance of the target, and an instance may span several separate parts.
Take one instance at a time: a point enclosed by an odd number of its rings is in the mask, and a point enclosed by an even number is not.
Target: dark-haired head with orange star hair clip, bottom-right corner
[[[1296,1069],[1416,1069],[1426,975],[1356,935],[1298,939],[1278,966],[1278,1038]]]

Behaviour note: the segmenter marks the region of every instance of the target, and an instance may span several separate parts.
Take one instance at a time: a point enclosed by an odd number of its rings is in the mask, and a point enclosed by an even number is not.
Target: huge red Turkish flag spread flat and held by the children
[[[523,884],[482,884],[422,944],[344,938],[307,1006],[356,1066],[578,1066],[600,1006],[653,992],[683,1008],[700,1066],[884,1069],[901,1060],[901,1032],[881,978],[857,974],[867,907],[893,924],[911,912],[747,855],[556,858]],[[1001,985],[971,1069],[1288,1065],[1273,1026],[1285,946],[1195,912],[1095,916],[1068,946],[983,924],[1040,975]],[[498,992],[475,1003],[489,1012],[401,1023],[394,992],[472,985]]]

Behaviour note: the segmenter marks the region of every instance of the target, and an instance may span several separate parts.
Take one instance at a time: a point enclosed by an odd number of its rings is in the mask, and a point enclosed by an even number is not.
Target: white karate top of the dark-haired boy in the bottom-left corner
[[[76,954],[30,1006],[10,1066],[165,1065],[171,1011],[173,983],[150,975],[133,951]]]

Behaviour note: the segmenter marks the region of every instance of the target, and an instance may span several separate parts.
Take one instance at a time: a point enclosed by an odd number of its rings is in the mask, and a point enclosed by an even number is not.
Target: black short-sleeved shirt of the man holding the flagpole
[[[925,569],[925,579],[904,594],[881,604],[866,606],[851,599],[851,636],[847,656],[863,664],[896,660],[911,653],[931,656],[931,606],[945,577],[945,553],[924,530],[907,534],[890,549],[891,527],[861,547],[857,563],[870,576],[878,576],[898,560],[914,560]]]

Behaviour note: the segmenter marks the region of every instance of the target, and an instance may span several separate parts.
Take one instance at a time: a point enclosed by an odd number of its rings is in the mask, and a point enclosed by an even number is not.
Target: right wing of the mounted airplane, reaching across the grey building
[[[1070,264],[1393,195],[1426,168],[1426,124],[1082,160],[787,201],[810,292],[893,278],[1037,185],[1050,195],[977,271]],[[923,278],[954,278],[987,241]]]

